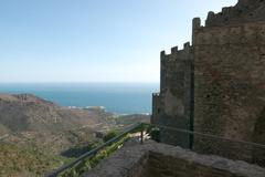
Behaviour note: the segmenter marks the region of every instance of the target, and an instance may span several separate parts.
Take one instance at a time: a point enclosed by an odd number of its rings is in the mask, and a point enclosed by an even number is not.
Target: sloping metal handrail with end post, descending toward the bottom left
[[[92,157],[93,155],[97,154],[99,150],[102,150],[104,147],[107,147],[109,145],[112,145],[113,143],[119,140],[121,137],[124,137],[125,135],[132,133],[134,131],[136,131],[137,128],[140,128],[139,132],[141,132],[141,143],[144,142],[144,129],[142,127],[142,123],[137,123],[134,124],[131,126],[129,126],[128,128],[126,128],[126,131],[124,131],[121,134],[119,134],[118,136],[107,140],[106,143],[104,143],[103,145],[83,154],[82,156],[80,156],[78,158],[72,160],[68,164],[63,165],[62,167],[55,169],[54,171],[45,175],[45,177],[56,177],[57,175],[60,175],[61,173],[65,171],[66,169],[70,169],[71,167],[73,167],[74,165],[78,164],[80,162],[84,160],[85,158]]]

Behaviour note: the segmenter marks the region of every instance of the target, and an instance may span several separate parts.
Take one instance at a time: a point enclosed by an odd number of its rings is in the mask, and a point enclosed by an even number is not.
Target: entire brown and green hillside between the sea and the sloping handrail
[[[0,94],[0,176],[43,175],[67,160],[65,152],[80,155],[100,143],[98,133],[139,121],[148,122],[149,116],[61,107],[31,94]]]

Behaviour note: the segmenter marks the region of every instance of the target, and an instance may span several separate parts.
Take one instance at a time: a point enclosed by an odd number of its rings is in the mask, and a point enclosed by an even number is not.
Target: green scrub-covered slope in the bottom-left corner
[[[60,156],[49,156],[40,150],[25,149],[0,143],[1,177],[35,177],[64,163]]]

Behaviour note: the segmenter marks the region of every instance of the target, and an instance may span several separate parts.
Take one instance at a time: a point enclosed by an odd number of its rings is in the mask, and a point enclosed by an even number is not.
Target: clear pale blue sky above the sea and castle
[[[159,82],[160,51],[236,0],[1,0],[0,83]]]

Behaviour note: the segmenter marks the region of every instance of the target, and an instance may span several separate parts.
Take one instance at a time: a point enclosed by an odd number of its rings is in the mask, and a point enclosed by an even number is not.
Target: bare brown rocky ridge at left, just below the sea
[[[102,123],[106,116],[91,110],[59,107],[31,94],[0,94],[0,133],[65,131]]]

